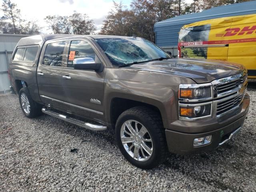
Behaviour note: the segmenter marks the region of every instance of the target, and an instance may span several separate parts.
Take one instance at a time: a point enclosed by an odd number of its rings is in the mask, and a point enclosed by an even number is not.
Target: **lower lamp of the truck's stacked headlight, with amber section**
[[[211,115],[211,104],[188,106],[180,104],[180,117],[198,118]]]

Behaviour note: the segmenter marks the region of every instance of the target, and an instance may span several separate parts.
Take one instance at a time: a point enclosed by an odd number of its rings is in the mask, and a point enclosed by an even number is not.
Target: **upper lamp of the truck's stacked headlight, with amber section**
[[[211,98],[211,87],[202,88],[180,88],[180,98],[183,99],[205,99]]]

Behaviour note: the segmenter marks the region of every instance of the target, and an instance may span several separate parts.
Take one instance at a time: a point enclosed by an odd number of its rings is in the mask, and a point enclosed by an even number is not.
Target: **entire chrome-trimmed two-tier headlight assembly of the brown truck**
[[[179,119],[200,120],[212,116],[212,84],[180,84]]]

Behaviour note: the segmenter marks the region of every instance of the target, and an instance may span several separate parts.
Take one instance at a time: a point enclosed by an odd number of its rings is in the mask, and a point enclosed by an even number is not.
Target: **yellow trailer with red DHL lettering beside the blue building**
[[[182,58],[206,58],[243,64],[256,79],[256,14],[204,20],[179,34]]]

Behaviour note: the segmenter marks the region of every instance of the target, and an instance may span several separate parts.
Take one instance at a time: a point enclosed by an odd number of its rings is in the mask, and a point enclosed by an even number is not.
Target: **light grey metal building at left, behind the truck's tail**
[[[29,35],[0,34],[0,93],[10,90],[8,64],[18,41]]]

